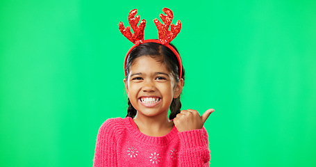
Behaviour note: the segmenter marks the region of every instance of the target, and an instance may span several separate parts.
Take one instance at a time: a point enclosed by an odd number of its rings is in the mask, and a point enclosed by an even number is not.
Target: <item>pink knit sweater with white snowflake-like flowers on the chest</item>
[[[206,129],[165,136],[142,134],[132,118],[111,118],[101,125],[94,154],[99,166],[208,166],[210,150]]]

